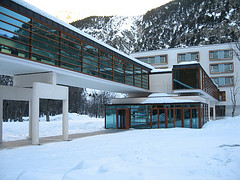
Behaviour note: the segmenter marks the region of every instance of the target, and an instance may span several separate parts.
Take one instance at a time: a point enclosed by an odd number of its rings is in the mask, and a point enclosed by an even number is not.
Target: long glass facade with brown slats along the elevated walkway
[[[144,66],[2,5],[0,52],[149,89]]]

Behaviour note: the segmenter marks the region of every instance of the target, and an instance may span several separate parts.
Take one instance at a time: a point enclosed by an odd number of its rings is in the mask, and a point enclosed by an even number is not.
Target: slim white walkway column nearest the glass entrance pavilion
[[[68,99],[63,100],[63,117],[62,117],[62,135],[63,140],[68,140]]]

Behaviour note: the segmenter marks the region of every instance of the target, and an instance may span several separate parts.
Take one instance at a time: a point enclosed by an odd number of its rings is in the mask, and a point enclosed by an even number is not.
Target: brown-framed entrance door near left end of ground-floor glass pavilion
[[[129,109],[117,109],[117,129],[129,129]]]

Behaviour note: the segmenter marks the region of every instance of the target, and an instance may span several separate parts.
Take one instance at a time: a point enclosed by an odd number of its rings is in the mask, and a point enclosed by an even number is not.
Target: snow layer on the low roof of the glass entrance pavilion
[[[197,102],[190,99],[175,99],[172,97],[154,97],[147,98],[141,104],[163,104],[163,103],[192,103]]]

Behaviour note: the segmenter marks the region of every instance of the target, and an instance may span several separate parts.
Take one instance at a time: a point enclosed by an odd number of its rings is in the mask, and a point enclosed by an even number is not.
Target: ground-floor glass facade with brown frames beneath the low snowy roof
[[[105,128],[118,128],[119,110],[129,110],[130,128],[201,128],[208,120],[208,106],[201,103],[157,105],[106,105]]]

